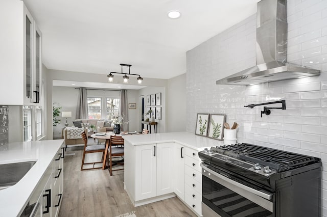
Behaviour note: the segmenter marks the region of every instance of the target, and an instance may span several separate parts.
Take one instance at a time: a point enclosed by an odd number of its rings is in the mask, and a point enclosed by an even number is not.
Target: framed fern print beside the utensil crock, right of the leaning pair
[[[209,118],[208,138],[222,141],[225,122],[226,115],[211,114]]]

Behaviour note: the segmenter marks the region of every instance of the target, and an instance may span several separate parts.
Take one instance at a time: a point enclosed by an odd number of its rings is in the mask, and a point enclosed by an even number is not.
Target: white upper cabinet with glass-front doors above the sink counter
[[[0,104],[40,105],[42,34],[24,2],[2,0]]]

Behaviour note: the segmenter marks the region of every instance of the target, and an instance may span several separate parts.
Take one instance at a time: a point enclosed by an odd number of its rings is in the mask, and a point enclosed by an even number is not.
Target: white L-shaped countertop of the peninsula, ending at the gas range
[[[204,148],[224,145],[223,141],[209,139],[191,132],[164,132],[139,135],[124,135],[131,145],[176,142],[181,145],[202,151]]]

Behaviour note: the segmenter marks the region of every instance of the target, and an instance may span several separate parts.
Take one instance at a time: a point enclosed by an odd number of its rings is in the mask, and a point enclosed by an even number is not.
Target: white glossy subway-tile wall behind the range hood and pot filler
[[[288,62],[320,69],[320,76],[256,86],[216,85],[216,80],[255,65],[253,15],[186,55],[186,130],[197,113],[227,115],[240,124],[238,142],[320,157],[323,216],[327,216],[327,1],[288,1]],[[286,100],[286,110],[247,104]],[[276,104],[278,106],[278,104]]]

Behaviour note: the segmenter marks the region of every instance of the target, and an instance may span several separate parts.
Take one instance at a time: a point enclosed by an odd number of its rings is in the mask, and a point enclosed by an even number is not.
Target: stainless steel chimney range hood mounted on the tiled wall
[[[287,63],[287,1],[262,0],[256,18],[256,66],[217,85],[252,85],[319,75],[320,71]]]

